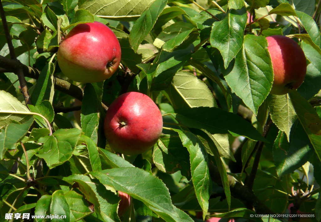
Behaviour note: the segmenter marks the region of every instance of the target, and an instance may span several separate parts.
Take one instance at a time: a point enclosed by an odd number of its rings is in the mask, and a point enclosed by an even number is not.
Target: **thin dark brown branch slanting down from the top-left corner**
[[[7,24],[7,20],[5,18],[5,13],[4,13],[4,9],[3,9],[3,5],[2,5],[1,0],[0,0],[0,14],[1,14],[2,25],[3,25],[3,29],[4,29],[4,36],[5,36],[7,43],[8,43],[10,58],[12,60],[17,60],[16,55],[14,53],[14,47],[12,45],[11,36],[10,36],[9,29],[8,29],[8,24]],[[24,78],[24,74],[23,74],[23,70],[22,70],[21,65],[19,65],[17,67],[15,73],[16,73],[16,75],[18,75],[20,88],[21,88],[22,95],[24,96],[26,104],[31,104],[30,95],[29,95],[28,87],[27,87],[27,81]]]

